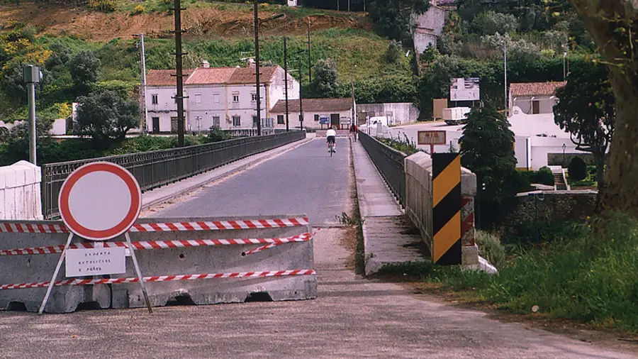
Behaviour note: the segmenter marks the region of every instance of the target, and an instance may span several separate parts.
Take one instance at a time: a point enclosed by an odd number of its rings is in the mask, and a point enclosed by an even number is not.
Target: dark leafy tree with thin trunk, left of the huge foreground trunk
[[[554,121],[571,133],[578,150],[589,152],[596,163],[598,189],[603,189],[605,157],[614,135],[615,101],[604,65],[591,63],[567,77],[565,87],[556,90]]]

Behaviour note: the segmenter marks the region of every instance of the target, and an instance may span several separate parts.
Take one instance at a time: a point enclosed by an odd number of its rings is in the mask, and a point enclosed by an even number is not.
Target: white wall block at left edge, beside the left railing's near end
[[[0,219],[42,220],[40,167],[20,161],[0,167]]]

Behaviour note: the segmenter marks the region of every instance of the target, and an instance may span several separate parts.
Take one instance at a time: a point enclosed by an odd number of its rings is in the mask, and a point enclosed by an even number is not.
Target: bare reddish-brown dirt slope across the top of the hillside
[[[260,17],[272,16],[264,12]],[[350,16],[313,15],[286,16],[262,24],[264,35],[299,35],[306,31],[310,19],[313,31],[325,28],[369,28],[366,18],[353,13]],[[91,41],[113,38],[133,38],[134,33],[147,33],[150,37],[170,37],[173,16],[168,13],[102,13],[85,8],[21,4],[0,6],[0,28],[11,23],[36,26],[43,34],[76,35]],[[252,13],[249,11],[220,10],[216,7],[191,8],[182,12],[182,24],[191,37],[245,37],[252,35]]]

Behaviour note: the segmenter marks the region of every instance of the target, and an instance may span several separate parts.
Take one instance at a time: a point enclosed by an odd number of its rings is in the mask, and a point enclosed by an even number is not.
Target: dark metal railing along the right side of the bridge
[[[390,190],[405,206],[405,158],[408,155],[381,143],[376,138],[359,131],[359,140],[370,159],[384,177]]]

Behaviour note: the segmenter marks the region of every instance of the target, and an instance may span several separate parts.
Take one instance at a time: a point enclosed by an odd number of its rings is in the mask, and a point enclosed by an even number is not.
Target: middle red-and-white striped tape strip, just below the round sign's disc
[[[306,242],[310,241],[312,235],[310,233],[302,233],[298,236],[287,238],[242,238],[242,239],[194,239],[194,240],[179,240],[179,241],[139,241],[132,242],[133,248],[137,250],[144,249],[165,249],[165,248],[188,248],[188,247],[202,247],[209,245],[250,245],[250,244],[265,244],[265,245],[281,245],[284,243],[293,242]],[[126,248],[126,242],[103,242],[101,246],[104,248],[123,247]],[[0,250],[1,255],[33,255],[33,254],[53,254],[62,253],[65,248],[64,245],[54,245],[47,247],[33,247],[33,248],[18,248],[18,249],[4,249]],[[70,249],[78,248],[96,248],[94,243],[72,243],[69,245]],[[260,247],[262,248],[262,247]],[[271,247],[272,248],[272,247]],[[259,248],[257,248],[259,249]],[[265,248],[264,248],[265,249]],[[257,250],[255,250],[257,251]],[[250,253],[245,253],[250,254]]]

